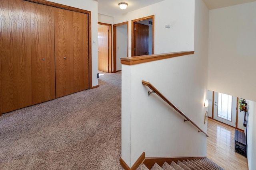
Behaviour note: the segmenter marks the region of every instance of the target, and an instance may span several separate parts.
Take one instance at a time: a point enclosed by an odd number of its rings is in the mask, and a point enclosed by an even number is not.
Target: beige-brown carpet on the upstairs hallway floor
[[[121,73],[99,85],[3,114],[0,169],[122,170]]]

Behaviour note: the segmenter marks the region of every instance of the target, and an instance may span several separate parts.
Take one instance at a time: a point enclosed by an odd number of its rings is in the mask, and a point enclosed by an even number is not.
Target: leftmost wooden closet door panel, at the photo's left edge
[[[30,2],[0,0],[0,113],[30,106]]]

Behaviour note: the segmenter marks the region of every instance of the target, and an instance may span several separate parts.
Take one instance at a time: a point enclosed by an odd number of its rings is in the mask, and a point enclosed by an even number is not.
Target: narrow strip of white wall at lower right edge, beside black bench
[[[248,102],[247,160],[249,170],[256,167],[256,102]]]

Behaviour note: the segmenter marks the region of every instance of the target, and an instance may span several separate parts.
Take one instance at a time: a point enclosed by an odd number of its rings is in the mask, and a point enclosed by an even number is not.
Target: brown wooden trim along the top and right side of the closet
[[[89,73],[88,74],[89,74],[89,89],[92,89],[92,16],[91,16],[91,12],[87,10],[82,10],[79,8],[63,5],[63,4],[58,4],[55,2],[46,1],[46,0],[25,0],[25,1],[88,14],[88,46],[89,46],[88,47],[88,53],[89,53],[88,54],[89,55],[89,70],[88,70]]]

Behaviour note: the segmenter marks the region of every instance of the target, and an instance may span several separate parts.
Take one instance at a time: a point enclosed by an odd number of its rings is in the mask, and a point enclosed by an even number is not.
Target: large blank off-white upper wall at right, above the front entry
[[[208,90],[256,101],[255,9],[251,2],[210,10]]]

